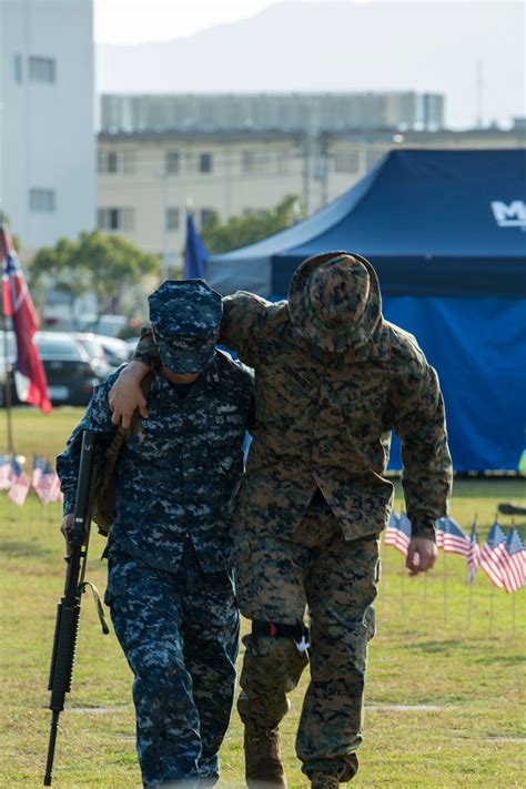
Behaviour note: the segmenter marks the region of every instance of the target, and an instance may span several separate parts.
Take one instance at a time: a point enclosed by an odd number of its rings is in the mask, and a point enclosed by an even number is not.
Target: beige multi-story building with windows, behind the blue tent
[[[393,148],[519,148],[524,132],[142,131],[99,134],[98,224],[179,266],[185,211],[198,226],[297,195],[307,214],[363,178]]]

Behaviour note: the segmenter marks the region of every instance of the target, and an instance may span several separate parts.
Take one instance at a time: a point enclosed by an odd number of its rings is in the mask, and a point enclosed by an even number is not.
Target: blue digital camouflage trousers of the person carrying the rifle
[[[113,545],[105,599],[134,674],[144,786],[213,786],[235,686],[239,613],[231,574],[203,573],[190,542],[173,573]]]

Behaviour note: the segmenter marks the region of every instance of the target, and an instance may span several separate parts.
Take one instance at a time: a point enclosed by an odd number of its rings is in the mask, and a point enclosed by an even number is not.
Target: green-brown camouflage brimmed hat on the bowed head
[[[382,323],[376,272],[355,253],[326,252],[296,269],[289,292],[295,332],[331,353],[368,353]]]

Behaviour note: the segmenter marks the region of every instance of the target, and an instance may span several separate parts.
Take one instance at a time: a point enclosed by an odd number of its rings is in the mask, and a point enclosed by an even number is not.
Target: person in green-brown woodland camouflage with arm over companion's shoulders
[[[237,599],[253,620],[239,699],[249,786],[286,786],[276,730],[307,664],[307,604],[311,682],[296,751],[313,787],[332,787],[357,769],[377,540],[393,503],[392,429],[414,539],[434,539],[447,510],[438,380],[416,340],[383,318],[375,271],[360,255],[304,261],[289,302],[225,297],[221,340],[256,373],[257,422],[234,515]],[[151,364],[152,351],[146,334],[136,361]]]

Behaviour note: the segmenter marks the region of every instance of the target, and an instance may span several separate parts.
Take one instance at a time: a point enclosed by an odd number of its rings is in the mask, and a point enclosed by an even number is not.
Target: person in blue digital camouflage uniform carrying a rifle
[[[148,412],[118,459],[105,601],[134,674],[144,787],[213,786],[235,684],[239,613],[231,513],[253,413],[252,375],[215,348],[221,297],[199,280],[150,296],[161,365]],[[58,458],[62,532],[72,519],[82,431],[115,429],[108,393],[92,397]]]

